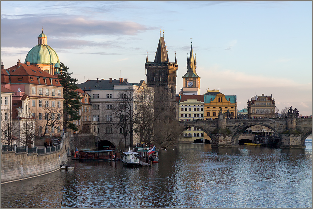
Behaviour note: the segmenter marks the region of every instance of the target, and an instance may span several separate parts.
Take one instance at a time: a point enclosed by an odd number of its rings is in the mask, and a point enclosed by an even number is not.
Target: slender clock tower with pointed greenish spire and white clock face
[[[194,52],[192,50],[192,42],[190,49],[190,56],[187,56],[187,73],[183,78],[183,95],[200,95],[200,76],[196,73],[197,67],[196,58],[194,59]]]

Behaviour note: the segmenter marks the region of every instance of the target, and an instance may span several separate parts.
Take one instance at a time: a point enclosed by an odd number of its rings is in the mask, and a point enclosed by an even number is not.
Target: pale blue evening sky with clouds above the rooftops
[[[146,80],[161,35],[178,62],[197,58],[200,93],[237,95],[237,109],[265,94],[277,108],[312,115],[312,1],[1,1],[1,62],[25,61],[44,30],[79,83]]]

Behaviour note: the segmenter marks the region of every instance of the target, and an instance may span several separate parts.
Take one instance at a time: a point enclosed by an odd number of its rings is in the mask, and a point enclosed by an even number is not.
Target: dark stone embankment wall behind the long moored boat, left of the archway
[[[92,133],[88,134],[69,134],[69,146],[71,147],[71,152],[75,147],[80,149],[89,148],[91,150],[97,149],[97,136]]]

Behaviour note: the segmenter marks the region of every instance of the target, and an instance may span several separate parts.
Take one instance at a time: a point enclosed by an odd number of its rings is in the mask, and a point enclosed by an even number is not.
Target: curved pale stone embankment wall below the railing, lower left
[[[62,148],[51,153],[28,154],[27,152],[2,152],[1,150],[1,184],[24,180],[59,170],[62,162],[68,161],[68,147],[69,141],[66,137],[63,137]]]

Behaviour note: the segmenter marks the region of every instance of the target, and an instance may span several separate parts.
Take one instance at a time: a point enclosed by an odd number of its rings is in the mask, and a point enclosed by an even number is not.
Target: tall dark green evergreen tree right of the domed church
[[[79,110],[80,110],[80,99],[75,92],[76,89],[79,89],[77,85],[77,79],[72,78],[72,73],[69,73],[69,67],[64,65],[61,62],[61,73],[58,75],[60,84],[64,87],[63,88],[63,128],[71,129],[73,131],[78,131],[78,127],[73,123],[74,120],[79,120]]]

